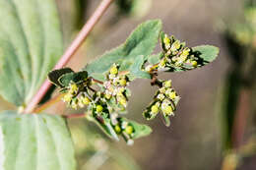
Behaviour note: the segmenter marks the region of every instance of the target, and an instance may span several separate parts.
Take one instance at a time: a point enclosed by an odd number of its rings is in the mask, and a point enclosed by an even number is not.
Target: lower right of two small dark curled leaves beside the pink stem
[[[78,73],[64,74],[59,78],[58,82],[60,85],[68,86],[70,84],[70,82],[79,84],[79,83],[85,81],[87,78],[88,78],[87,71],[81,71]]]

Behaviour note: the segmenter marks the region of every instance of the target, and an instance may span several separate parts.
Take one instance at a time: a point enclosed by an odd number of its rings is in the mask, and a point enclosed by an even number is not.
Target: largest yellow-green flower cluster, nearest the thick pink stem
[[[92,78],[70,81],[61,91],[65,93],[62,100],[74,109],[88,107],[86,116],[93,119],[112,136],[120,135],[128,144],[133,143],[136,133],[133,124],[120,116],[127,107],[130,95],[127,85],[129,79],[119,73],[119,67],[113,64],[106,74],[106,81],[99,82]],[[100,90],[93,88],[99,84]],[[113,133],[114,134],[111,134]]]

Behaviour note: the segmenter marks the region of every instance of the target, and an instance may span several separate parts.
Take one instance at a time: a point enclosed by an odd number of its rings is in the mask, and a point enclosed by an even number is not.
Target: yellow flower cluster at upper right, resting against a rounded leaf
[[[157,65],[149,65],[146,71],[153,70],[191,70],[200,66],[199,58],[196,57],[192,49],[186,47],[185,42],[180,42],[173,35],[161,36],[162,56]]]

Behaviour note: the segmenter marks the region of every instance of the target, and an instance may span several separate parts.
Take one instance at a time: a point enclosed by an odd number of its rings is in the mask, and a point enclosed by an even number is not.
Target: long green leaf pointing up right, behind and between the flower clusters
[[[120,71],[130,71],[130,67],[137,57],[149,56],[153,52],[158,43],[160,30],[161,22],[159,20],[143,23],[131,33],[124,44],[106,52],[87,65],[84,70],[98,80],[103,80],[102,75],[113,63],[120,65]]]

